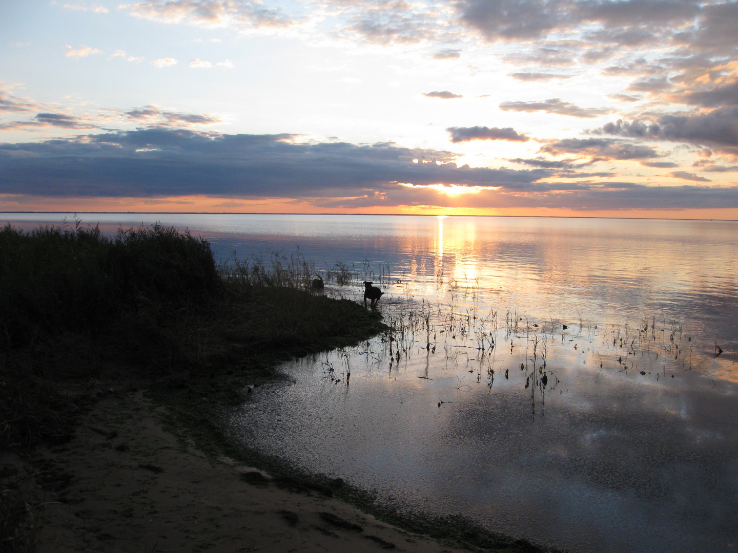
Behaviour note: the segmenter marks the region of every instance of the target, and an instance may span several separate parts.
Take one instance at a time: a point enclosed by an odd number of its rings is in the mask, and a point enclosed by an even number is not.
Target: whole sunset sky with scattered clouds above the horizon
[[[738,3],[0,2],[0,211],[738,219]]]

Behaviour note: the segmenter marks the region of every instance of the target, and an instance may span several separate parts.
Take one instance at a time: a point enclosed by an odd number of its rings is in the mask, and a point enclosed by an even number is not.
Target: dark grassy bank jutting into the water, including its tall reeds
[[[226,367],[269,375],[277,361],[384,329],[354,302],[306,291],[310,269],[294,259],[271,272],[218,267],[206,241],[162,226],[114,237],[4,226],[0,449],[63,440],[89,399],[72,393],[80,382],[145,375],[182,386]]]

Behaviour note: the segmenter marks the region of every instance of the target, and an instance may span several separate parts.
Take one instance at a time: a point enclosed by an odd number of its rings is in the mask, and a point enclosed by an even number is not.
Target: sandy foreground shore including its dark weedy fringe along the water
[[[79,415],[68,442],[0,456],[6,473],[13,466],[18,479],[25,480],[27,499],[43,506],[32,550],[558,551],[479,532],[458,519],[449,521],[452,529],[443,524],[432,529],[429,525],[437,521],[424,524],[413,513],[403,518],[383,511],[381,504],[366,501],[363,490],[346,487],[348,493],[331,493],[325,484],[316,484],[314,475],[290,473],[284,462],[272,460],[275,472],[267,472],[258,457],[253,465],[238,459],[238,446],[229,452],[235,453],[232,457],[222,452],[222,442],[203,442],[213,437],[213,427],[199,418],[201,411],[190,412],[199,419],[200,432],[193,433],[182,424],[180,408],[166,405],[161,392],[146,386],[151,382],[100,381],[89,390],[97,399]],[[290,476],[280,481],[282,471]],[[254,481],[255,473],[267,481]],[[271,476],[277,479],[269,481]],[[485,546],[490,539],[494,545]]]

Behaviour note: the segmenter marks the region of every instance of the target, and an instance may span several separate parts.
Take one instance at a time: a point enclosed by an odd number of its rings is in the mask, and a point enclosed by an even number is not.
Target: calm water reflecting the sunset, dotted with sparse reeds
[[[328,293],[386,292],[392,340],[286,364],[236,439],[571,551],[738,550],[737,222],[82,217],[187,226],[223,258],[299,246],[354,267]]]

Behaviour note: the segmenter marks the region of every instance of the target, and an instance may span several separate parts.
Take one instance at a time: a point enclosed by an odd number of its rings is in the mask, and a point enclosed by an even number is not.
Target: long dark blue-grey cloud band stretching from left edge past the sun
[[[4,144],[0,191],[50,196],[316,197],[356,195],[393,182],[515,189],[551,174],[541,169],[457,167],[452,153],[438,150],[392,144],[296,144],[291,142],[294,138],[151,129]]]

